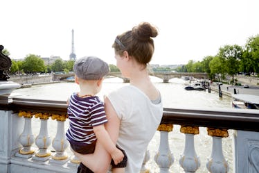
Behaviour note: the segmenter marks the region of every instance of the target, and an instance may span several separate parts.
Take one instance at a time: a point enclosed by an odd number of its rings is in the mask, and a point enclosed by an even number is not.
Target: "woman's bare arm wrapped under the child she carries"
[[[118,139],[118,131],[120,129],[120,120],[118,119],[118,116],[107,97],[105,97],[105,113],[108,120],[105,124],[105,129],[107,129],[111,140],[116,143]],[[75,153],[75,156],[77,156],[82,163],[89,167],[89,169],[93,172],[107,172],[111,163],[111,156],[100,144],[100,142],[98,142],[98,140],[96,142],[96,149],[93,154]]]

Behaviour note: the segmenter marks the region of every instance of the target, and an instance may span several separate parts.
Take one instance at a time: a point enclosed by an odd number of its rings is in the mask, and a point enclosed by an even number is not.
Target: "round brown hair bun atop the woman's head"
[[[142,22],[139,26],[132,28],[132,37],[142,42],[150,41],[150,38],[155,38],[157,35],[157,28],[148,22]]]

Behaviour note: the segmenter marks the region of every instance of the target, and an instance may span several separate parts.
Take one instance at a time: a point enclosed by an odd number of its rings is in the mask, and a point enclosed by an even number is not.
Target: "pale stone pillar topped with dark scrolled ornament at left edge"
[[[11,156],[21,147],[18,139],[24,122],[12,113],[9,106],[12,102],[10,93],[20,85],[7,81],[12,61],[2,51],[3,46],[0,45],[0,173],[6,173],[10,172]]]

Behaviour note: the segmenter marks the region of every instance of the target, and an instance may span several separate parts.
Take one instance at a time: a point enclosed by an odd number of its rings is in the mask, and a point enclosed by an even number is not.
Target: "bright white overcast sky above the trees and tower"
[[[10,58],[35,54],[116,64],[116,36],[141,22],[159,29],[150,64],[187,64],[215,56],[226,44],[244,46],[259,34],[258,0],[2,0],[0,44]]]

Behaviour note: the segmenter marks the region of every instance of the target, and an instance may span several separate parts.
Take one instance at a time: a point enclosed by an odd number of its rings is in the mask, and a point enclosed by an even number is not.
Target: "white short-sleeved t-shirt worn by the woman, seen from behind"
[[[120,119],[117,145],[127,154],[125,173],[141,171],[148,143],[152,140],[163,115],[163,105],[152,101],[133,85],[127,85],[107,96]]]

